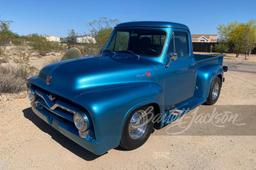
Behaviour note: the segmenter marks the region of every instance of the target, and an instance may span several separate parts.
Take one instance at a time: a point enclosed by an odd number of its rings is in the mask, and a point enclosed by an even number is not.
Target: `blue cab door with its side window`
[[[175,107],[176,104],[193,96],[196,66],[189,46],[191,37],[188,35],[189,32],[186,29],[172,29],[166,55],[175,52],[177,59],[171,61],[170,66],[166,67],[166,109]]]

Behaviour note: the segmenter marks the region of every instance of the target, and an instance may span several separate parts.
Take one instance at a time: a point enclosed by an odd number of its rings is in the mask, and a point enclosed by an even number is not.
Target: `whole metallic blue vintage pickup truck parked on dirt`
[[[216,103],[223,57],[193,54],[186,25],[121,23],[101,54],[43,67],[27,94],[35,114],[94,154],[134,150],[154,126]]]

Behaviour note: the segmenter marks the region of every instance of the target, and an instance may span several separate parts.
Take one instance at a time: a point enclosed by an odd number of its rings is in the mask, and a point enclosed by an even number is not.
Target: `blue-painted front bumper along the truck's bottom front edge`
[[[98,142],[93,140],[92,138],[83,139],[79,136],[79,131],[76,129],[75,125],[72,122],[66,121],[59,116],[49,112],[46,108],[42,107],[42,105],[37,105],[33,107],[31,103],[32,111],[35,112],[40,118],[46,121],[49,125],[51,125],[56,130],[60,131],[60,133],[64,134],[66,137],[76,142],[80,146],[86,148],[93,152],[94,154],[103,154],[102,152],[98,152],[96,150]]]

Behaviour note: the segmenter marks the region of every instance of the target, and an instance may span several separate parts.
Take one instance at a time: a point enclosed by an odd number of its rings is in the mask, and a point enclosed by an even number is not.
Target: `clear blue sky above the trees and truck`
[[[187,25],[192,34],[217,34],[218,24],[256,19],[256,0],[0,0],[0,15],[1,20],[13,20],[10,29],[19,35],[67,37],[68,29],[84,35],[89,33],[87,23],[101,16],[121,22],[176,22]]]

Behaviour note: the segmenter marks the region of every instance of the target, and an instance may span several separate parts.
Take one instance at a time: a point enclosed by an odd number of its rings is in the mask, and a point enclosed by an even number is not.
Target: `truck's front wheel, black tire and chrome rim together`
[[[123,127],[120,146],[127,150],[141,147],[153,129],[154,107],[147,105],[132,112]]]

